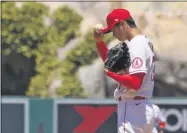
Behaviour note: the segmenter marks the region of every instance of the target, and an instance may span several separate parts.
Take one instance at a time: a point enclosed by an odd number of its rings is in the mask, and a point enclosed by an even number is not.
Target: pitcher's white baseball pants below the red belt
[[[154,110],[149,100],[118,102],[118,133],[152,133]]]

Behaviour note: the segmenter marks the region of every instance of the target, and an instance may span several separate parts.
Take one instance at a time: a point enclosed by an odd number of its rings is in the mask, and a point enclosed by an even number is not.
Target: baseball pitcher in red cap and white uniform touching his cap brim
[[[112,10],[106,22],[106,28],[97,24],[93,32],[106,74],[119,83],[114,91],[118,101],[118,133],[151,133],[154,126],[154,111],[149,100],[154,86],[153,45],[139,32],[125,9]],[[121,42],[109,50],[103,36],[110,32]]]

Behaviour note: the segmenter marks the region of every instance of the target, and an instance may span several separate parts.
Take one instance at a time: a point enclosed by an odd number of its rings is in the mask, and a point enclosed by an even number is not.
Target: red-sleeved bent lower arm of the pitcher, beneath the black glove
[[[141,87],[145,73],[139,73],[134,75],[118,75],[108,71],[107,75],[128,88],[138,90]]]

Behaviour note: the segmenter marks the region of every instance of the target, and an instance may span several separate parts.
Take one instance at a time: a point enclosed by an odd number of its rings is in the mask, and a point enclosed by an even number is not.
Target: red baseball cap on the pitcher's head
[[[126,9],[112,10],[106,18],[107,27],[102,30],[102,33],[106,34],[111,32],[111,29],[114,27],[115,24],[119,23],[120,21],[126,20],[130,17],[130,12]]]

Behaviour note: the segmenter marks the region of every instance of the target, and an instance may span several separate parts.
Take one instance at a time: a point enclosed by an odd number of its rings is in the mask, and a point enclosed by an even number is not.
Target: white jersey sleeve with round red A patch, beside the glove
[[[140,45],[141,46],[141,45]],[[129,74],[140,72],[147,72],[146,68],[146,49],[144,47],[130,48],[131,66],[129,67]]]

